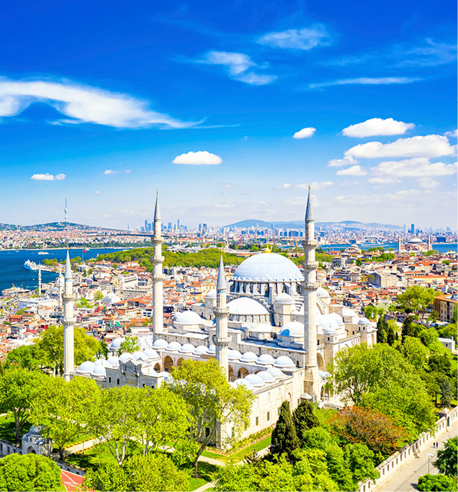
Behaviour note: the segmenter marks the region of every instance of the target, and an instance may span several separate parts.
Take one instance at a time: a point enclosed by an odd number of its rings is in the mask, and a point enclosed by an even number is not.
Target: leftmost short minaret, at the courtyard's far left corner
[[[73,341],[73,326],[75,319],[73,318],[73,282],[71,280],[71,263],[68,254],[65,262],[63,289],[63,377],[66,381],[70,381],[70,373],[75,370],[74,357],[74,341]]]

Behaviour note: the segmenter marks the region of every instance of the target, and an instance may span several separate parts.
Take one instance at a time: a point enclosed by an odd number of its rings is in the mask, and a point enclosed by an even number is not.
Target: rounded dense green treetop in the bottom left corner
[[[0,459],[1,491],[65,491],[61,468],[46,456],[16,453]]]

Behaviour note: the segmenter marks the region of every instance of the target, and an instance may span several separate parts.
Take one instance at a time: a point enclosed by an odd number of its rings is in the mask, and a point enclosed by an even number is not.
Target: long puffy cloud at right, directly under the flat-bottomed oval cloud
[[[384,157],[425,157],[434,158],[441,155],[454,155],[455,148],[442,135],[417,135],[410,138],[398,138],[392,143],[360,143],[345,152],[356,158]]]

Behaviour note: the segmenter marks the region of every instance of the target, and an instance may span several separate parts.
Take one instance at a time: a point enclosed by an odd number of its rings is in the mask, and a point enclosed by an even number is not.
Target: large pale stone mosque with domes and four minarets
[[[203,303],[178,312],[163,325],[163,256],[158,197],[153,235],[153,342],[133,354],[116,353],[123,338],[114,339],[107,360],[73,367],[73,292],[70,260],[64,276],[64,374],[91,377],[103,387],[129,384],[155,388],[185,359],[215,358],[233,386],[243,384],[255,400],[250,426],[242,438],[273,426],[280,405],[295,407],[301,399],[332,399],[325,389],[327,364],[342,347],[376,343],[375,324],[342,305],[316,282],[315,221],[310,189],[305,212],[302,272],[287,257],[259,253],[242,262],[232,278],[220,260],[216,289]],[[220,429],[216,446],[233,435],[231,424]]]

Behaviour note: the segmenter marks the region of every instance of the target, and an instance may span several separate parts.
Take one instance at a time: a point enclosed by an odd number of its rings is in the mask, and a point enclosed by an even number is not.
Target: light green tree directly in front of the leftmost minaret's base
[[[31,405],[31,421],[43,425],[54,441],[61,460],[64,449],[87,433],[86,424],[96,406],[100,390],[96,381],[76,376],[71,381],[47,378]]]

